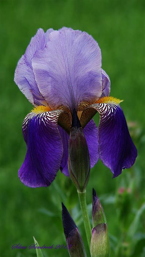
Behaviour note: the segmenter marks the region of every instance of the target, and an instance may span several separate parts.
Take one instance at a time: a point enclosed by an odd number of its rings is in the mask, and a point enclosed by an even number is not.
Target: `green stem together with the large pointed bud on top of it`
[[[69,175],[77,188],[88,246],[91,244],[91,225],[87,212],[86,186],[90,175],[90,156],[76,109],[72,113],[72,128],[69,137]]]

